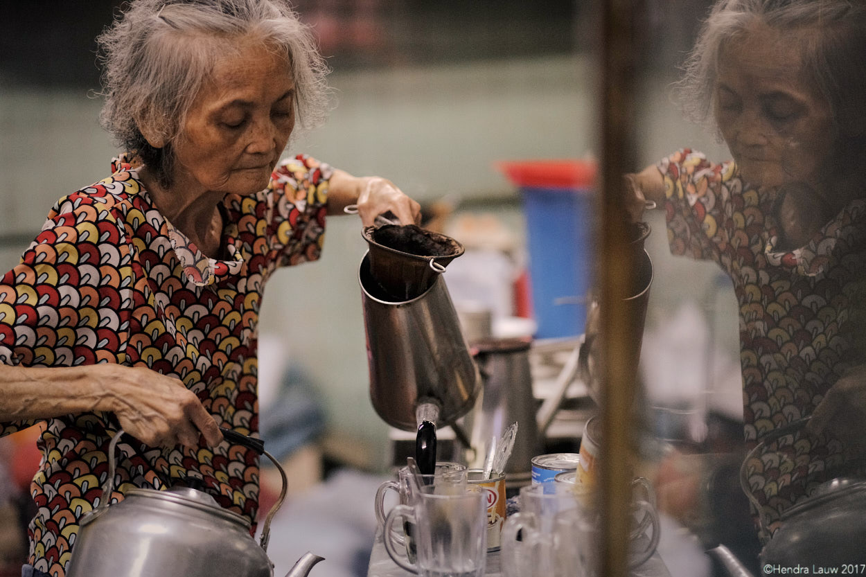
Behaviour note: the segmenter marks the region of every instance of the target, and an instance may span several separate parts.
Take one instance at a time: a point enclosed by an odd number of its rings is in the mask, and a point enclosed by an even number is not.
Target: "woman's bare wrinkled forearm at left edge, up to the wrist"
[[[70,413],[112,411],[105,379],[109,365],[0,369],[0,421],[52,418]]]

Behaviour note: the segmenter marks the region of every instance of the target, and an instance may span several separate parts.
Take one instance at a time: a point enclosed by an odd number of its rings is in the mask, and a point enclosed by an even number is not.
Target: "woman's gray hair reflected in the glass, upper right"
[[[704,21],[676,85],[688,118],[711,124],[719,52],[750,24],[806,31],[802,42],[807,79],[830,104],[842,138],[866,133],[866,3],[863,0],[720,0]]]

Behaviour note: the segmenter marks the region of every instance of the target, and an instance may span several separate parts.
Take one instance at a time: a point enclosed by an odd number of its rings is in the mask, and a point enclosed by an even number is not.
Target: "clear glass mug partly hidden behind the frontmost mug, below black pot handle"
[[[397,470],[397,481],[385,481],[376,489],[376,498],[373,502],[376,512],[376,522],[378,528],[385,527],[385,495],[388,491],[394,491],[399,497],[399,504],[410,505],[412,503],[412,490],[410,483],[409,467],[404,466]],[[447,461],[436,463],[432,475],[420,476],[421,486],[423,490],[429,492],[454,492],[458,489],[466,487],[466,465],[458,463],[450,463]],[[412,525],[409,521],[405,521],[403,531],[392,531],[391,533],[383,530],[382,538],[384,541],[391,539],[400,547],[405,547],[406,555],[410,562],[415,562],[415,543],[412,539]]]

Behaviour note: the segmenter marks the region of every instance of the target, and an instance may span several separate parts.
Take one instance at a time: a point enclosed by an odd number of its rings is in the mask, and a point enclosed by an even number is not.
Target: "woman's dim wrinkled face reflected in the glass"
[[[805,80],[797,32],[753,24],[722,47],[715,119],[740,172],[753,185],[816,189],[835,135],[829,104]]]

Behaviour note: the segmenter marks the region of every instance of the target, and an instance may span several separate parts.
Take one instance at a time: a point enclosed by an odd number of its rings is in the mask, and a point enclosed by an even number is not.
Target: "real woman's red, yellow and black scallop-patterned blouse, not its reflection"
[[[204,256],[165,220],[129,159],[112,168],[111,177],[61,198],[0,281],[0,362],[147,366],[182,379],[218,425],[257,432],[262,290],[277,267],[320,256],[330,167],[298,156],[278,166],[266,190],[227,197],[227,261]],[[42,572],[62,577],[78,521],[101,496],[117,429],[111,419],[88,412],[46,423],[29,525],[29,562]],[[32,424],[0,423],[0,434]],[[255,527],[253,451],[228,442],[214,451],[157,449],[124,439],[113,500],[132,486],[165,489],[172,478],[198,477]]]

